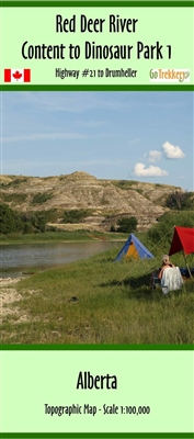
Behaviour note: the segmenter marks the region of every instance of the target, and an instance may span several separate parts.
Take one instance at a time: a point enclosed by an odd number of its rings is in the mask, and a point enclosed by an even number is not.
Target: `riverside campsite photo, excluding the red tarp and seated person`
[[[2,92],[2,114],[1,344],[192,345],[193,277],[152,279],[194,228],[193,93]]]

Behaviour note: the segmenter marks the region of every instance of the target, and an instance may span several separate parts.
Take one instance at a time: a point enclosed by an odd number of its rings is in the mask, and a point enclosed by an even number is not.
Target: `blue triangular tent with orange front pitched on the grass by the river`
[[[152,254],[140,243],[140,240],[132,234],[127,241],[124,244],[122,250],[115,258],[115,261],[121,261],[123,258],[136,258],[136,259],[151,259],[155,258]]]

